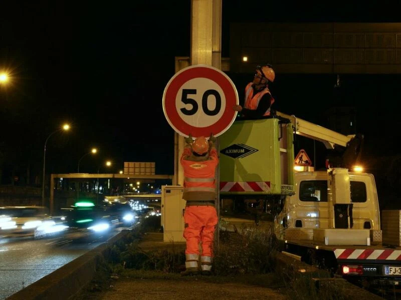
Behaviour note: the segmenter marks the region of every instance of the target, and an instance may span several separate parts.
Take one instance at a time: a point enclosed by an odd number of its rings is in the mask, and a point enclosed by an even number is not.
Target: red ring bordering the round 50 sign
[[[179,116],[175,106],[175,97],[179,88],[185,82],[193,78],[202,77],[208,78],[220,85],[226,98],[226,111],[229,109],[232,113],[230,114],[225,111],[217,122],[206,127],[194,127],[184,122]],[[211,133],[213,133],[215,136],[218,136],[224,132],[230,123],[234,121],[235,115],[237,114],[236,111],[232,110],[232,107],[235,104],[238,104],[238,96],[237,90],[233,86],[232,82],[221,72],[205,66],[190,67],[182,72],[177,73],[175,77],[171,79],[171,82],[166,87],[164,93],[165,116],[168,118],[170,125],[172,125],[176,131],[186,135],[189,135],[190,133],[193,137],[200,135],[209,136]],[[175,122],[172,122],[172,119]]]

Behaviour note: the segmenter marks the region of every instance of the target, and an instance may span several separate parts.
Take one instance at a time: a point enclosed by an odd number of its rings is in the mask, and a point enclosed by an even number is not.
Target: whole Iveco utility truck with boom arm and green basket
[[[298,134],[343,148],[342,159],[295,170]],[[222,218],[254,209],[256,223],[271,216],[283,253],[350,280],[401,282],[398,211],[383,211],[389,217],[380,226],[373,175],[350,171],[362,141],[281,112],[236,120],[219,139]]]

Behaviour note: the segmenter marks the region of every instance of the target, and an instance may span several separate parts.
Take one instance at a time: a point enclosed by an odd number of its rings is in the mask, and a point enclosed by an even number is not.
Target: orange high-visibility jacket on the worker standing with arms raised
[[[191,149],[185,147],[181,155],[184,170],[184,190],[182,198],[186,201],[210,201],[216,198],[215,172],[219,164],[217,150],[211,146],[207,160],[190,160]]]

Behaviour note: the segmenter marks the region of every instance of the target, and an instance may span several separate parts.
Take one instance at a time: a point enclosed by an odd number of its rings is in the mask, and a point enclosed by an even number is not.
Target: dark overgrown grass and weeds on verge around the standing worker
[[[145,232],[159,231],[160,217],[144,219],[110,249],[110,255],[99,266],[94,280],[73,300],[96,299],[99,292],[110,289],[113,280],[132,279],[191,280],[179,271],[185,268],[182,249],[143,250],[140,242]],[[214,276],[196,276],[215,283],[236,282],[280,290],[289,299],[343,300],[336,284],[320,287],[311,274],[302,274],[291,265],[283,266],[276,259],[277,241],[266,228],[248,228],[238,232],[220,231],[215,244]]]

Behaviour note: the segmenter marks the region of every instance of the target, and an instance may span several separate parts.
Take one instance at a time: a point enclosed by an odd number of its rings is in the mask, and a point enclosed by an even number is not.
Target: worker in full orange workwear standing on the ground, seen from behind
[[[189,134],[185,142],[180,159],[184,171],[182,198],[186,201],[183,232],[186,240],[185,271],[181,275],[196,275],[199,270],[201,274],[209,275],[218,222],[215,207],[215,173],[219,164],[216,137],[211,134],[209,140],[204,136],[192,140]],[[199,243],[202,252],[199,251]]]

